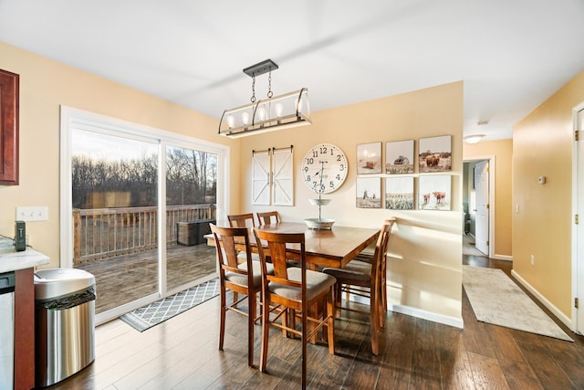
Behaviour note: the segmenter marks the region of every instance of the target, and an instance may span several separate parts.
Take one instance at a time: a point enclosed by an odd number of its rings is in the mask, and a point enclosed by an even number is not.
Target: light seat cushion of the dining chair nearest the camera
[[[302,280],[302,269],[290,267],[287,272],[288,279]],[[337,280],[330,275],[307,269],[307,299],[312,300],[318,294],[330,289],[336,282]],[[284,286],[271,281],[268,289],[270,292],[290,300],[301,300],[302,298],[302,291],[296,287]]]

